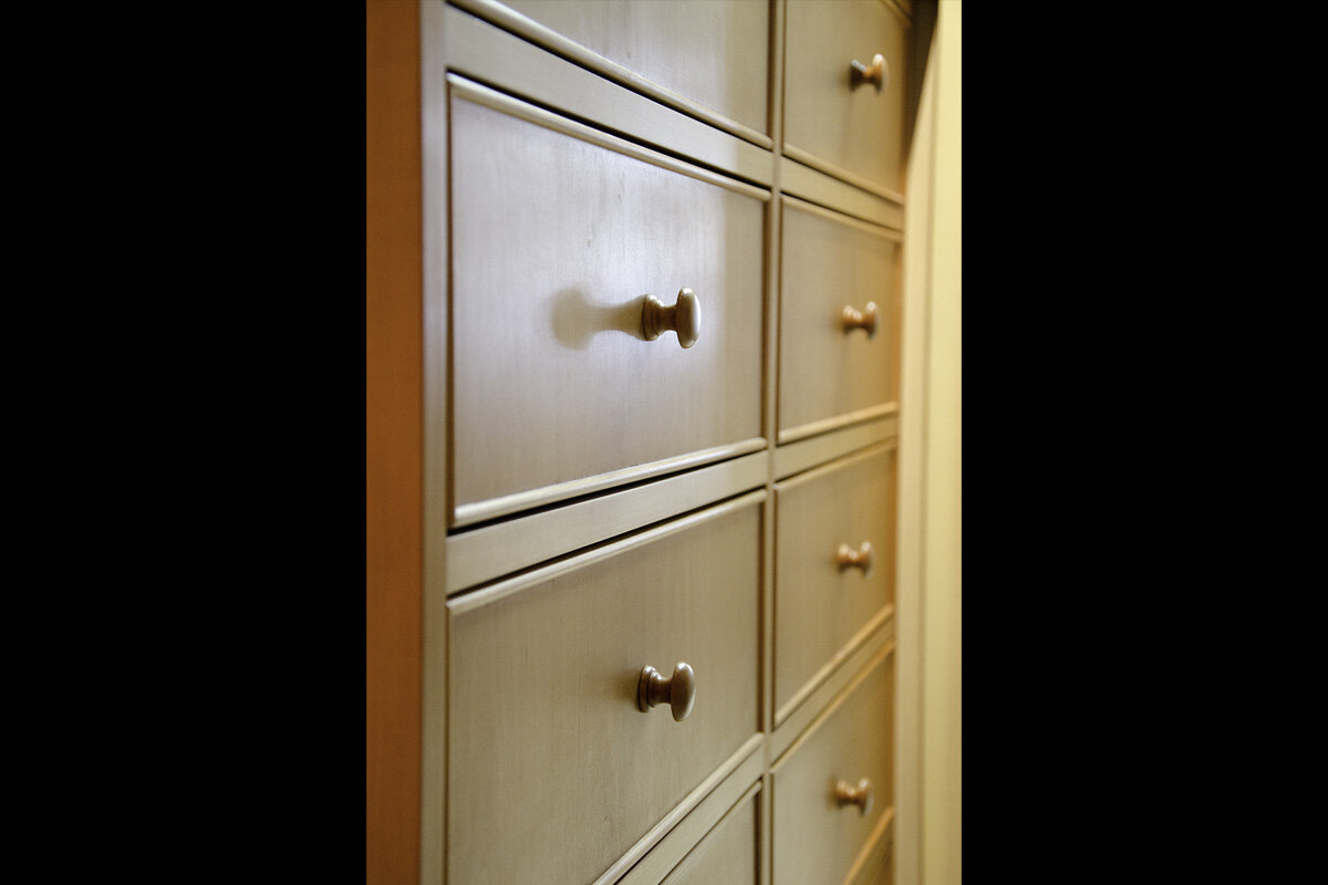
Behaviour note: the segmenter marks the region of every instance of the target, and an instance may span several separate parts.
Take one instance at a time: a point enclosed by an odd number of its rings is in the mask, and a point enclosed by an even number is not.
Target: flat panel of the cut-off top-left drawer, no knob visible
[[[764,0],[505,0],[505,5],[699,105],[768,134]]]

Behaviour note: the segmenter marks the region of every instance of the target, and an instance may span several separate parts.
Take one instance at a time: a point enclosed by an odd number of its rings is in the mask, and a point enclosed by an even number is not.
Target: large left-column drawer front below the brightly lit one
[[[449,602],[448,881],[591,882],[757,734],[761,511]],[[641,713],[677,662],[691,714]]]

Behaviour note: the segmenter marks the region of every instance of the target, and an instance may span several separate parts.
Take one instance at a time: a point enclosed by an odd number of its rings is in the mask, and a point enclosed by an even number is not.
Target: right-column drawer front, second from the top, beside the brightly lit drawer
[[[782,206],[780,442],[895,401],[899,240],[806,203]],[[845,320],[851,308],[875,332]],[[825,429],[825,427],[822,427]]]

